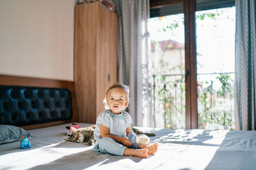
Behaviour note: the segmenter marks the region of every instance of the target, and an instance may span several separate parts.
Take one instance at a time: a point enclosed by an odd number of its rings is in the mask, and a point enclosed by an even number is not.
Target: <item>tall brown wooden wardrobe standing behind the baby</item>
[[[78,121],[95,124],[117,81],[118,15],[99,2],[76,5],[74,81]]]

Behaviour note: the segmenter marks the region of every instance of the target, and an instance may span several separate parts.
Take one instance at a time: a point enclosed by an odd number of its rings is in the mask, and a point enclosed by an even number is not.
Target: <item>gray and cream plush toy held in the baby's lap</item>
[[[128,139],[129,141],[131,141],[132,148],[134,149],[141,149],[149,145],[149,141],[150,141],[150,139],[147,136],[145,135],[137,136],[133,131],[129,133]]]

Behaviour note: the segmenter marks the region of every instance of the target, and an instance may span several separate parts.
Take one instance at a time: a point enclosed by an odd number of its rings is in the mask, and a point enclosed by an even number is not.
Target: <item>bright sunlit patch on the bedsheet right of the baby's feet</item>
[[[154,142],[159,143],[159,152],[154,155],[154,160],[158,162],[158,166],[154,168],[168,169],[171,165],[172,169],[179,169],[180,166],[184,165],[183,169],[188,167],[204,169],[213,159],[227,133],[228,131],[177,129],[172,133],[161,136],[154,140]],[[166,149],[167,146],[168,149]],[[201,163],[195,164],[198,160]],[[145,165],[152,168],[154,162],[147,162]]]

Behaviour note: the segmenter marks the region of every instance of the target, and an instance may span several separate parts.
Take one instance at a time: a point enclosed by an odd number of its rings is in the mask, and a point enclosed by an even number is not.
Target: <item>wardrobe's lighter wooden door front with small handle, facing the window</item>
[[[105,90],[117,81],[118,16],[98,6],[97,22],[97,115],[104,110]]]

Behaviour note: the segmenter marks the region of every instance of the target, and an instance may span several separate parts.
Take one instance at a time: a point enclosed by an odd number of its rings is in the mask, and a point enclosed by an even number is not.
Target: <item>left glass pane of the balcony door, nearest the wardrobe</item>
[[[155,11],[149,20],[154,126],[186,128],[185,34],[183,3],[176,11]],[[166,10],[166,11],[165,11]],[[159,13],[161,13],[159,15]],[[168,15],[164,15],[168,14]]]

